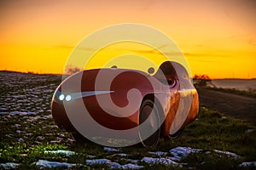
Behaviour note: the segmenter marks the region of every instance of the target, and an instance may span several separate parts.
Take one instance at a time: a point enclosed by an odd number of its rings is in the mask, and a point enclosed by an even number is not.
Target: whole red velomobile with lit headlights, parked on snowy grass
[[[152,67],[148,73],[116,66],[80,71],[55,90],[52,116],[74,138],[92,140],[94,133],[112,138],[108,131],[97,132],[99,127],[122,132],[119,138],[139,138],[144,146],[156,145],[160,137],[176,138],[198,115],[198,94],[183,65],[166,61],[152,73]]]

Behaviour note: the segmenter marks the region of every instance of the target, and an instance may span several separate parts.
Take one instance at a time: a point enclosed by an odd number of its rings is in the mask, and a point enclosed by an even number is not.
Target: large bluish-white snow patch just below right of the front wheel
[[[189,156],[190,153],[197,153],[200,151],[200,149],[191,149],[189,147],[178,146],[170,150],[170,153],[172,154],[172,157],[170,157],[170,159],[180,161],[182,158]]]

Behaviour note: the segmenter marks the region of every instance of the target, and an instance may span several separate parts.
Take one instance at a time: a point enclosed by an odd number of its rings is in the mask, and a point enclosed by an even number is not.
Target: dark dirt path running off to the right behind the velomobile
[[[206,88],[197,88],[197,91],[201,104],[256,126],[256,99]]]

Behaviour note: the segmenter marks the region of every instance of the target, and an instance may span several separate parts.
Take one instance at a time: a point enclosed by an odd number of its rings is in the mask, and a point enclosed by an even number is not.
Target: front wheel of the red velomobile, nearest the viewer
[[[145,147],[154,147],[160,139],[159,111],[150,99],[145,99],[140,108],[139,135]],[[142,125],[143,124],[143,125]],[[143,129],[142,129],[143,127]],[[151,134],[148,138],[148,134]]]

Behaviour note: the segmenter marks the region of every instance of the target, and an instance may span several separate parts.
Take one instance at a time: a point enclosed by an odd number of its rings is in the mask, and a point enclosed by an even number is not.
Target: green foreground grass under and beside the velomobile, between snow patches
[[[5,116],[7,115],[1,115],[2,118]],[[189,146],[202,151],[184,158],[181,162],[187,164],[184,164],[183,167],[169,166],[176,169],[187,169],[189,167],[198,169],[238,169],[238,164],[242,161],[256,161],[256,131],[247,133],[248,129],[255,129],[255,127],[240,120],[224,117],[217,111],[210,111],[204,106],[201,106],[198,119],[185,128],[183,135],[179,139],[161,139],[160,144],[154,149],[140,146],[120,148],[120,152],[128,154],[127,157],[104,151],[103,147],[97,144],[73,142],[71,134],[56,127],[51,118],[39,119],[36,122],[32,122],[32,124],[28,124],[26,119],[26,116],[9,116],[8,119],[2,119],[0,127],[5,130],[1,132],[1,163],[17,162],[20,163],[19,168],[21,169],[39,168],[32,165],[32,162],[44,159],[77,163],[77,168],[86,169],[87,167],[81,167],[79,164],[84,165],[85,160],[91,159],[91,156],[95,159],[110,159],[123,165],[129,163],[129,159],[141,160],[144,156],[152,156],[148,151],[161,150],[168,152],[177,146]],[[20,124],[20,126],[14,127],[15,124]],[[20,130],[21,133],[16,133],[17,130]],[[24,133],[22,133],[23,131]],[[26,137],[27,133],[32,134]],[[20,142],[20,138],[24,139],[24,141]],[[44,150],[73,150],[76,154],[66,156],[45,153]],[[215,153],[212,150],[227,150],[241,157],[233,158]],[[207,151],[209,151],[208,154],[206,154]],[[143,165],[145,169],[169,168],[163,164],[150,165],[145,162],[138,162],[138,164]],[[106,164],[96,164],[90,167],[109,168]]]

